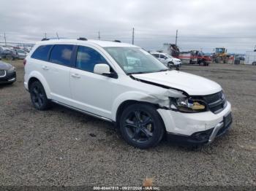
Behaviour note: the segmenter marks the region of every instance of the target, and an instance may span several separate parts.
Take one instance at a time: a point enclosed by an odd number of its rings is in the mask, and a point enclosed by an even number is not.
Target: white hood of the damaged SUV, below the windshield
[[[132,74],[137,79],[183,90],[189,95],[209,95],[222,90],[216,82],[183,71],[162,71],[148,74]]]

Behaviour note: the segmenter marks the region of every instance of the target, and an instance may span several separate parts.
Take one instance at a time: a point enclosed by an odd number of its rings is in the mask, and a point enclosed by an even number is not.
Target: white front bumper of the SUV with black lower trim
[[[231,127],[231,106],[227,102],[219,114],[201,112],[184,114],[170,110],[157,110],[165,123],[167,138],[170,141],[188,144],[209,144],[222,136]]]

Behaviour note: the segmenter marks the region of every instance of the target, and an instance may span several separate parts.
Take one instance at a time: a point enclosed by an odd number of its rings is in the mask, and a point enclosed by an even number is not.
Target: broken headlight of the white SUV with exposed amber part
[[[197,113],[206,112],[207,106],[203,101],[192,98],[170,98],[170,108],[179,112]]]

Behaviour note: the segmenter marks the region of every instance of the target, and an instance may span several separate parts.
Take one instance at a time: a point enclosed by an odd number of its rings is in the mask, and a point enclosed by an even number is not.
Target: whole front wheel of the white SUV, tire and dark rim
[[[127,106],[121,114],[119,127],[124,140],[140,149],[156,146],[165,132],[157,110],[148,104]]]

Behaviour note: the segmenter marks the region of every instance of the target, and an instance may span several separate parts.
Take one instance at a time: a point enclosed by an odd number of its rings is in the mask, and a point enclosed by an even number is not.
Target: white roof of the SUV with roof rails
[[[49,39],[45,41],[37,42],[37,44],[58,44],[58,43],[74,43],[74,44],[96,44],[99,47],[137,47],[132,44],[112,41],[100,41],[100,40],[78,40],[78,39]]]

